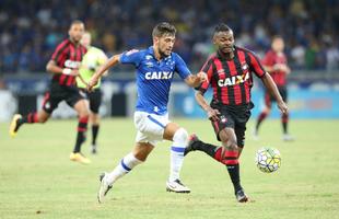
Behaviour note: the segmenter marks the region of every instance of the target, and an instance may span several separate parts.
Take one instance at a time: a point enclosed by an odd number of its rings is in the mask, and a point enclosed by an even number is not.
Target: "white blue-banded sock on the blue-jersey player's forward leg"
[[[187,140],[188,134],[184,128],[179,128],[173,136],[170,182],[180,178],[180,170],[184,163],[184,152],[187,146]]]

